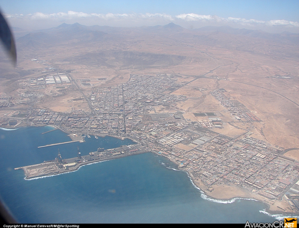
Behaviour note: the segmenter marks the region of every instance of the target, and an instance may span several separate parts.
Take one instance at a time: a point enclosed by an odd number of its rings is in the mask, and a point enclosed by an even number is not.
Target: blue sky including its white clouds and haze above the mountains
[[[63,22],[143,26],[169,22],[187,28],[228,25],[269,32],[299,32],[299,1],[82,1],[1,0],[12,26],[30,29]]]

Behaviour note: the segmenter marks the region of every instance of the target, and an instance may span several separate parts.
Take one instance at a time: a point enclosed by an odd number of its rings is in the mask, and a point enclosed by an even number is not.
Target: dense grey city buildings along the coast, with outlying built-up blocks
[[[49,68],[47,72],[51,70]],[[81,83],[90,86],[89,80],[82,80]],[[180,169],[192,174],[193,178],[200,179],[206,186],[203,191],[212,192],[213,185],[238,186],[273,202],[284,197],[292,210],[298,212],[299,163],[283,156],[285,148],[251,137],[250,129],[246,129],[245,134],[237,138],[216,133],[213,129],[222,128],[222,120],[213,112],[194,113],[195,116],[208,117],[205,122],[187,121],[181,111],[155,112],[153,106],[175,107],[179,102],[187,100],[187,96],[173,94],[173,91],[186,83],[166,74],[131,74],[127,83],[92,90],[87,97],[91,112],[75,109],[69,113],[30,108],[13,110],[11,98],[0,96],[0,108],[10,110],[0,119],[0,126],[16,128],[21,123],[53,125],[70,133],[72,137],[109,135],[120,139],[129,138],[138,143],[134,150],[98,150],[90,154],[88,159],[79,158],[78,153],[77,163],[74,159],[66,162],[61,160],[59,167],[50,161],[55,172],[58,169],[75,169],[83,160],[91,161],[91,156],[97,159],[106,156],[108,159],[122,153],[151,151],[166,156],[176,162]],[[23,86],[32,92],[19,94],[22,97],[21,103],[34,103],[42,96],[39,89],[47,85],[62,89],[75,86],[66,72],[26,79]],[[225,93],[225,89],[210,92],[228,109],[236,122],[262,121],[242,103],[227,97]]]

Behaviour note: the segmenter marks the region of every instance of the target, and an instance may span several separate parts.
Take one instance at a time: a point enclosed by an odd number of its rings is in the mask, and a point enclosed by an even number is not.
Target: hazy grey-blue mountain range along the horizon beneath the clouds
[[[23,35],[25,31],[13,28],[16,33]],[[284,56],[298,57],[298,53],[292,53],[292,49],[298,49],[299,34],[283,32],[279,34],[267,33],[261,30],[234,29],[228,26],[207,26],[200,29],[185,29],[174,23],[164,26],[143,27],[109,27],[109,26],[85,26],[78,23],[61,24],[47,30],[34,30],[16,39],[18,50],[40,50],[53,46],[85,46],[92,44],[109,44],[112,46],[126,46],[127,43],[140,40],[156,39],[157,42],[179,42],[185,45],[202,44],[207,46],[221,46],[228,49],[244,51],[253,50],[256,45],[266,43],[271,45],[288,45],[287,54]],[[264,47],[263,47],[264,48]],[[270,46],[269,46],[270,48]],[[275,49],[275,47],[274,47]],[[279,53],[277,53],[279,54]]]

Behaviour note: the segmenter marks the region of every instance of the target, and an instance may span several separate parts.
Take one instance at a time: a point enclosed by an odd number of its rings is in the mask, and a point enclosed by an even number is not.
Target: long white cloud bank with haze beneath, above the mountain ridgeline
[[[245,18],[221,18],[216,15],[199,15],[195,13],[168,15],[161,13],[129,13],[129,14],[97,14],[68,11],[67,13],[33,13],[6,14],[9,23],[14,27],[24,29],[46,29],[58,26],[62,23],[72,24],[78,22],[84,25],[108,25],[115,27],[155,26],[170,22],[179,24],[185,28],[200,28],[204,26],[231,26],[234,28],[246,28],[253,30],[264,30],[266,32],[289,31],[299,33],[299,23],[294,21],[270,20],[260,21]]]

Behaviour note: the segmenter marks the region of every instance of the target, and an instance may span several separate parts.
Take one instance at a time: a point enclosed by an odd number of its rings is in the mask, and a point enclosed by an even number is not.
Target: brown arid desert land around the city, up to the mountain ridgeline
[[[188,30],[170,23],[133,28],[62,24],[22,35],[16,40],[16,68],[1,52],[0,98],[10,103],[8,108],[0,108],[2,118],[12,110],[34,108],[92,113],[89,99],[93,91],[126,83],[132,74],[166,74],[182,85],[168,93],[187,100],[171,107],[153,106],[150,114],[180,111],[187,123],[200,123],[209,121],[209,116],[194,113],[210,112],[222,119],[222,127],[213,129],[219,134],[237,138],[250,131],[251,137],[269,145],[299,148],[298,34],[242,34],[225,27],[220,31],[213,27]],[[57,73],[67,75],[70,82],[34,84],[38,78]],[[237,121],[211,95],[218,89],[261,121]],[[176,147],[192,149],[183,144]],[[285,156],[299,162],[299,150]],[[241,190],[229,195],[231,188],[215,186],[210,196],[253,197]],[[286,210],[288,206],[280,203]],[[271,206],[270,210],[278,209]]]

